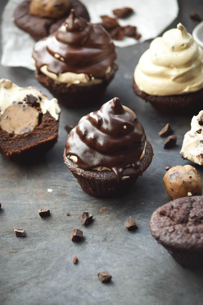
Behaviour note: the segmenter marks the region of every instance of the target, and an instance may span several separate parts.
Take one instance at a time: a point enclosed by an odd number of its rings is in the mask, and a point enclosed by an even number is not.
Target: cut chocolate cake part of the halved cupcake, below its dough
[[[0,153],[15,162],[39,159],[57,142],[58,125],[59,121],[47,112],[40,125],[23,135],[9,134],[0,128]]]

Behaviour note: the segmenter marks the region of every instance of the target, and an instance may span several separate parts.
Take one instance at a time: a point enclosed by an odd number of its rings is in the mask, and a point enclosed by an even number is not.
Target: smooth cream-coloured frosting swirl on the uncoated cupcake
[[[150,95],[176,95],[203,88],[203,51],[185,27],[155,38],[134,73],[138,88]]]

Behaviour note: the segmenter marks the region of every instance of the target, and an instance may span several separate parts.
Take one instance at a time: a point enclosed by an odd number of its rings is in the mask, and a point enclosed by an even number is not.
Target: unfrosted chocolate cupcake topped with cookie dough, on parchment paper
[[[14,21],[20,29],[38,40],[58,30],[71,9],[90,20],[85,5],[78,0],[25,0],[17,6]]]

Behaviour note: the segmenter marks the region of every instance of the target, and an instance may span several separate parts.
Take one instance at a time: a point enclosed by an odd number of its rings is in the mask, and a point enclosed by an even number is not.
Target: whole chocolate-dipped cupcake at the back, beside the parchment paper
[[[55,33],[37,42],[33,58],[37,80],[69,108],[99,101],[117,70],[109,34],[74,10]]]

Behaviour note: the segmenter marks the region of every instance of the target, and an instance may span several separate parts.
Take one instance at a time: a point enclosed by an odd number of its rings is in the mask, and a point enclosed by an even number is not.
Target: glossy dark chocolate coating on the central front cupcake
[[[106,167],[120,181],[127,165],[138,168],[146,136],[135,113],[115,97],[100,110],[82,117],[66,140],[66,156],[76,156],[77,167],[84,170]]]

